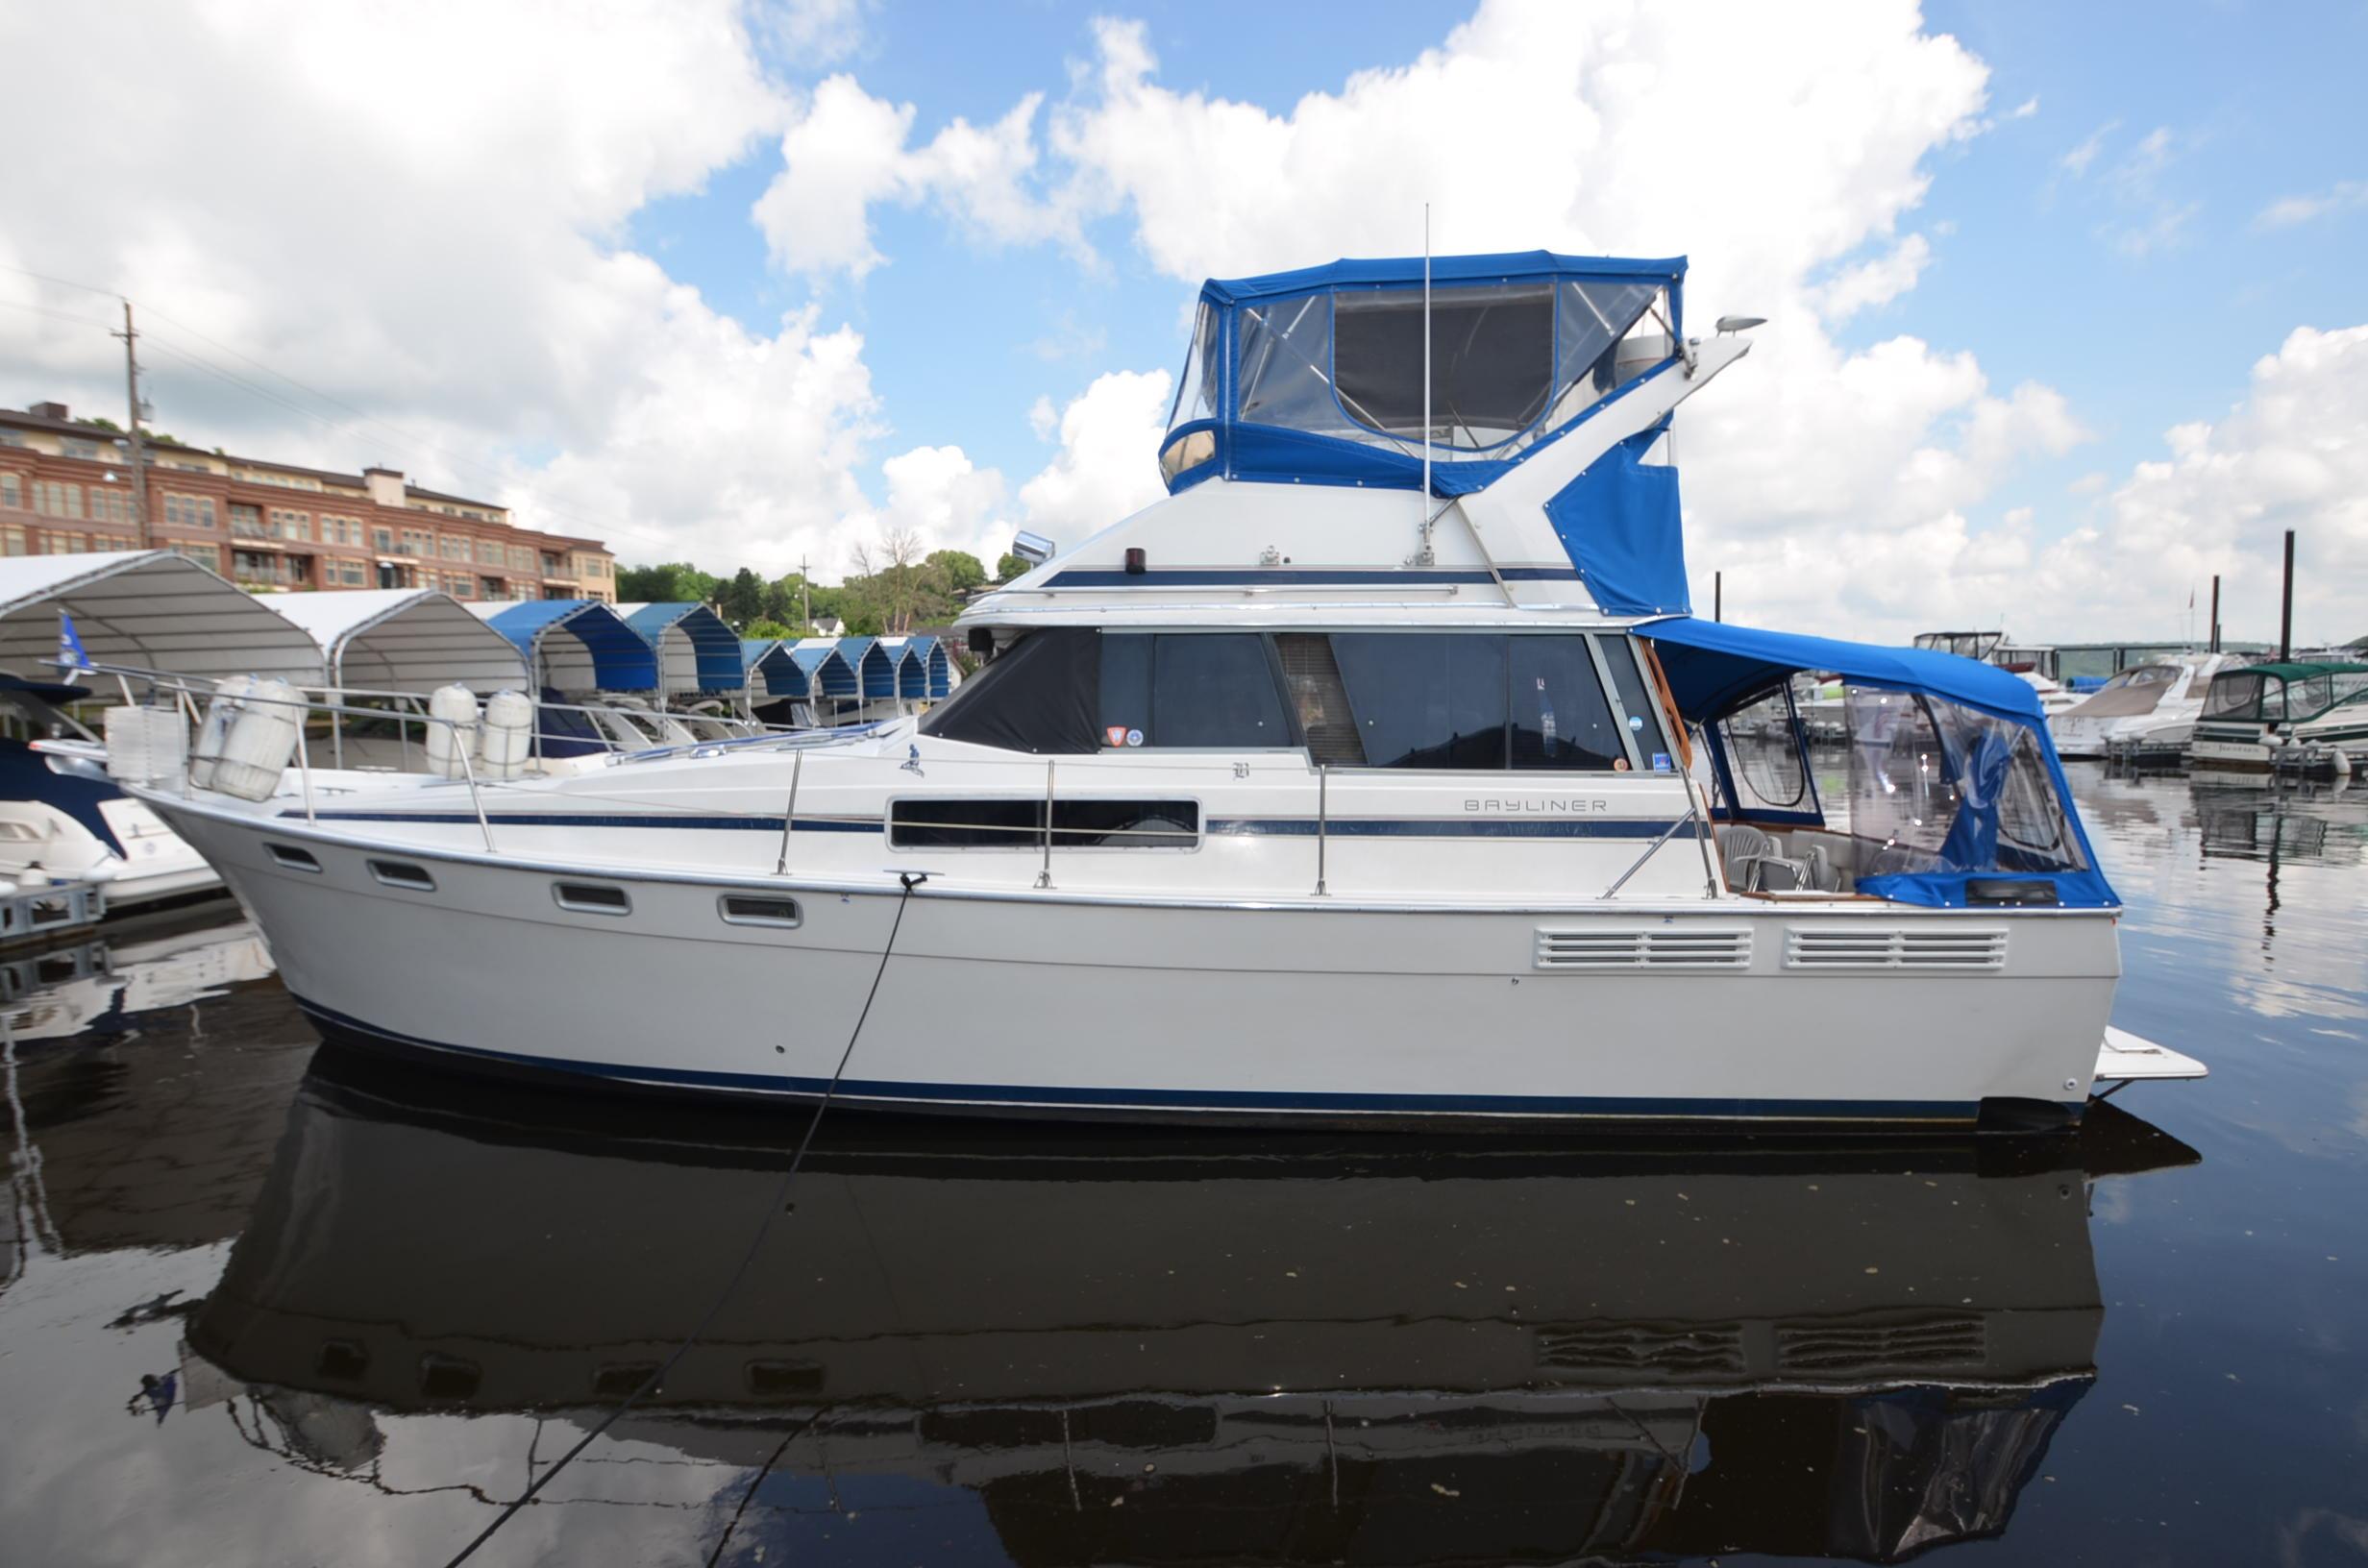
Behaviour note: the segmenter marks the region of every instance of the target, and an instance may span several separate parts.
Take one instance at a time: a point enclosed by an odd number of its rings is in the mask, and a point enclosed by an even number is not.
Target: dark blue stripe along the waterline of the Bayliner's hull
[[[703,1073],[689,1068],[616,1066],[604,1061],[571,1061],[566,1056],[530,1056],[523,1052],[493,1052],[466,1045],[440,1045],[398,1035],[360,1018],[348,1018],[334,1009],[296,997],[296,1004],[329,1030],[365,1035],[388,1045],[419,1052],[445,1052],[452,1056],[476,1056],[504,1066],[547,1068],[606,1078],[616,1082],[654,1082],[684,1090],[718,1090],[741,1094],[800,1094],[819,1097],[826,1078],[793,1078],[786,1073]],[[1283,1111],[1283,1113],[1369,1113],[1369,1116],[1568,1116],[1568,1118],[1634,1118],[1634,1120],[1790,1120],[1790,1123],[1904,1123],[1904,1120],[1954,1120],[1970,1123],[1980,1116],[1980,1101],[1970,1099],[1634,1099],[1634,1097],[1575,1097],[1575,1094],[1267,1094],[1257,1090],[1066,1090],[1037,1085],[997,1082],[900,1082],[893,1078],[841,1078],[836,1099],[857,1101],[926,1101],[947,1106],[1002,1106],[1023,1111],[1030,1106],[1073,1106],[1113,1111]]]

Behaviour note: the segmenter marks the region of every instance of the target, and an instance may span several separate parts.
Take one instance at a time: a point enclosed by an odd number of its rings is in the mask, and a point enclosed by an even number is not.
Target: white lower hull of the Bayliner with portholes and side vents
[[[907,898],[879,876],[606,872],[149,798],[220,867],[324,1033],[478,1066],[810,1099],[895,931],[838,1085],[843,1104],[888,1111],[1662,1127],[1968,1125],[1984,1106],[2070,1118],[2119,971],[2100,910],[1222,902],[959,876]],[[317,869],[291,869],[289,850]],[[400,860],[433,888],[386,886],[372,860]],[[620,888],[630,907],[566,910],[561,881]],[[793,898],[798,924],[725,924],[727,893]],[[1570,933],[1598,938],[1577,943],[1589,952],[1608,943],[1613,959],[1570,966],[1572,943],[1542,940]],[[1849,957],[1864,938],[1875,955]],[[1672,947],[1695,940],[1712,957]]]

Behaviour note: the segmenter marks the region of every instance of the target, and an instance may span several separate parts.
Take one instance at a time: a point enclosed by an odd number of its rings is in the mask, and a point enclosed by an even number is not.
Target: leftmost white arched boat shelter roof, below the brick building
[[[170,675],[277,675],[317,685],[313,635],[263,599],[170,550],[0,559],[0,668],[54,680],[57,611],[83,651]]]

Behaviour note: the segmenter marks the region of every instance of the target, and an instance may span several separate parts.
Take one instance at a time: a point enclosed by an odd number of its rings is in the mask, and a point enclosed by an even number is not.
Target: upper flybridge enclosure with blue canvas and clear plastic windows
[[[1160,443],[1203,478],[1475,490],[1679,351],[1684,258],[1525,251],[1336,261],[1201,289]]]

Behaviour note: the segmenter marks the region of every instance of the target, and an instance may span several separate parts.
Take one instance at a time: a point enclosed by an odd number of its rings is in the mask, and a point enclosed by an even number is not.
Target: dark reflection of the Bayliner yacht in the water
[[[796,1127],[530,1104],[324,1052],[192,1395],[384,1487],[466,1447],[395,1426],[613,1407]],[[713,1466],[734,1551],[890,1487],[1021,1563],[1897,1561],[2006,1530],[2096,1376],[2091,1184],[2193,1161],[2112,1106],[1833,1149],[848,1120],[611,1442]]]

